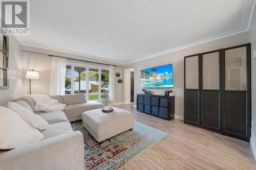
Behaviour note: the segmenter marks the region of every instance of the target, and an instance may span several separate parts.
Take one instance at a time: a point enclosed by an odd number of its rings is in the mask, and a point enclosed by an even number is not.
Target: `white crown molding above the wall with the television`
[[[255,5],[256,5],[256,0],[245,0],[244,8],[243,8],[243,18],[242,18],[241,28],[239,28],[237,30],[232,30],[232,31],[229,31],[229,32],[226,32],[226,33],[222,33],[222,34],[218,34],[218,35],[209,37],[209,38],[205,38],[205,39],[202,39],[202,40],[198,40],[198,41],[195,41],[195,42],[191,42],[191,43],[187,43],[187,44],[184,44],[184,45],[181,45],[181,46],[170,48],[168,50],[165,50],[165,51],[162,51],[162,52],[159,52],[159,53],[155,53],[155,54],[152,54],[152,55],[142,57],[142,58],[137,59],[137,60],[133,60],[133,61],[127,63],[127,64],[132,64],[132,63],[135,63],[135,62],[138,62],[138,61],[142,61],[142,60],[150,59],[150,58],[153,58],[153,57],[161,56],[161,55],[164,55],[164,54],[167,54],[167,53],[172,53],[172,52],[175,52],[175,51],[179,51],[179,50],[182,50],[184,48],[191,47],[191,46],[196,46],[196,45],[204,44],[204,43],[207,43],[207,42],[210,42],[210,41],[214,41],[214,40],[222,39],[222,38],[229,37],[229,36],[232,36],[232,35],[247,32],[250,29],[250,24],[251,24],[251,20],[252,20]]]

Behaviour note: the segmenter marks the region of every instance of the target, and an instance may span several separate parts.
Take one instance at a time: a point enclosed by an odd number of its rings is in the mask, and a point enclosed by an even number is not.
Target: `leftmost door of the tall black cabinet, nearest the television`
[[[199,125],[199,56],[184,60],[184,122]]]

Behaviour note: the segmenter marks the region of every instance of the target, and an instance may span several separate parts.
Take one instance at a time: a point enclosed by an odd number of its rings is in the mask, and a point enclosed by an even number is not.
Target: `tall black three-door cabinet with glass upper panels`
[[[250,139],[250,43],[184,57],[184,123]]]

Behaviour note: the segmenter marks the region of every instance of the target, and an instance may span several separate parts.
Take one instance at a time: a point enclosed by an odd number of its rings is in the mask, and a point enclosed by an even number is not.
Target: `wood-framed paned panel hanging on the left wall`
[[[0,89],[8,89],[8,37],[1,36],[0,39]]]

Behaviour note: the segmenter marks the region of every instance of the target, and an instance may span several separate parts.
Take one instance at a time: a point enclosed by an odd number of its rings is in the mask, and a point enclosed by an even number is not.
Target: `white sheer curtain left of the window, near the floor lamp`
[[[65,94],[66,58],[52,57],[50,95]]]

